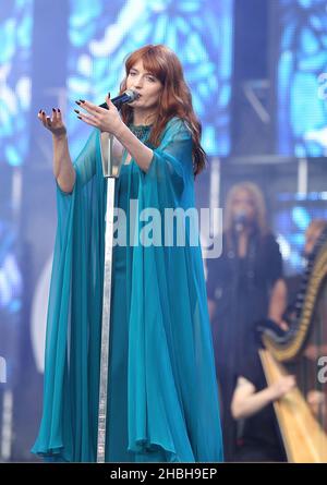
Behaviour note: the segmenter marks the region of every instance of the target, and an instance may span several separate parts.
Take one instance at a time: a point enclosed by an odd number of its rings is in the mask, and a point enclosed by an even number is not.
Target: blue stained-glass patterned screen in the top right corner
[[[279,0],[279,153],[327,155],[326,0]]]

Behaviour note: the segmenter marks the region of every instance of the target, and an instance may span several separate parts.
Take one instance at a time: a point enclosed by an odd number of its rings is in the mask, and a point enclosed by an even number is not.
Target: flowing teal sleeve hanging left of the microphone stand
[[[34,453],[94,460],[104,267],[105,182],[99,132],[73,162],[72,193],[57,183],[57,234],[49,292],[43,417]],[[95,373],[89,373],[94,368]],[[78,442],[78,447],[74,446]]]

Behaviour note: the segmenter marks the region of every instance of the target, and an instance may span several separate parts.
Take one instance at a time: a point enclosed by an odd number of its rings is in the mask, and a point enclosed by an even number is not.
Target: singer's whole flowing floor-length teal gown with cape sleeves
[[[149,131],[141,135],[148,146]],[[92,132],[74,162],[73,192],[57,185],[44,411],[33,448],[52,461],[96,460],[107,183],[99,136]],[[190,244],[187,223],[184,245],[173,233],[164,245],[164,209],[195,205],[185,123],[171,119],[152,148],[149,170],[131,160],[116,184],[116,207],[123,209],[116,237],[126,222],[128,244],[113,247],[106,461],[221,461],[201,247]],[[144,217],[149,208],[162,216],[156,235]],[[146,231],[155,244],[135,244]]]

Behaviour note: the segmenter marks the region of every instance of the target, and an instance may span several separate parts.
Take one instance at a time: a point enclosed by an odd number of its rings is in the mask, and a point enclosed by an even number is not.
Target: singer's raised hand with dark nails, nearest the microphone
[[[86,113],[82,112],[80,109],[75,110],[75,112],[77,113],[77,118],[90,126],[95,126],[101,132],[116,135],[121,130],[121,125],[124,123],[120,118],[118,109],[111,102],[111,99],[108,96],[106,97],[106,102],[109,109],[100,108],[93,102],[81,99],[80,101],[76,101],[76,104],[80,106],[80,108],[83,108]]]

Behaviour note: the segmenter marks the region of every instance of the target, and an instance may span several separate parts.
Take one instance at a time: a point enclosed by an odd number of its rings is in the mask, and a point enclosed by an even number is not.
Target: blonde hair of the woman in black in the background
[[[246,191],[253,199],[254,204],[254,221],[256,222],[259,235],[263,237],[268,232],[266,222],[266,204],[259,187],[253,182],[240,182],[233,185],[227,194],[225,207],[225,231],[230,233],[233,225],[232,206],[233,201],[239,192]]]

